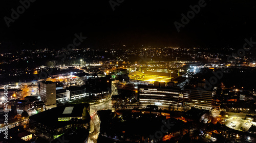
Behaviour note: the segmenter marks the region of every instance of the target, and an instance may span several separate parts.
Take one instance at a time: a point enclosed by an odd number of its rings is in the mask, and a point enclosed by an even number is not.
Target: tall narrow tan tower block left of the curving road
[[[56,84],[52,81],[42,81],[39,85],[41,101],[45,102],[47,108],[56,107]]]

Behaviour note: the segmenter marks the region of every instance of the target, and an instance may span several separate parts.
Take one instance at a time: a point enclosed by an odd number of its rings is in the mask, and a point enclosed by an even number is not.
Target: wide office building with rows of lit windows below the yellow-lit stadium
[[[161,82],[154,85],[138,85],[138,98],[143,107],[157,105],[159,107],[195,107],[199,109],[211,109],[212,91],[198,90],[196,88],[184,88],[181,90],[173,84],[165,86]]]

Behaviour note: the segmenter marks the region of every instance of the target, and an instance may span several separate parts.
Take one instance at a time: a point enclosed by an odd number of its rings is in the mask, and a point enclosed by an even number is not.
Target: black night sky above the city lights
[[[178,33],[174,22],[181,23],[181,14],[198,2],[124,0],[113,11],[109,1],[37,0],[7,27],[4,17],[11,18],[11,9],[16,11],[21,4],[5,0],[0,2],[0,51],[61,49],[80,32],[88,37],[81,44],[86,48],[112,44],[241,48],[244,39],[256,33],[254,0],[205,1],[206,6]]]

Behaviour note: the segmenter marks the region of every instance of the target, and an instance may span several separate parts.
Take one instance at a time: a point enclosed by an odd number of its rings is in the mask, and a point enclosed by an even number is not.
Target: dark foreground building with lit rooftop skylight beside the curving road
[[[30,128],[50,138],[74,129],[90,129],[90,104],[69,104],[55,107],[31,116]]]

